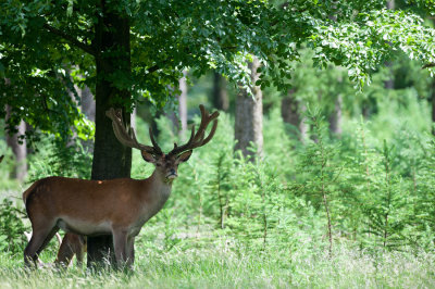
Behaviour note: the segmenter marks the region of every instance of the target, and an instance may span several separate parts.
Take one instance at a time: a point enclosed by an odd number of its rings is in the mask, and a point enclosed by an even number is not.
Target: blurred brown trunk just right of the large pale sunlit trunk
[[[294,96],[295,91],[291,89],[288,91],[287,97],[281,101],[281,116],[287,124],[293,125],[297,128],[297,136],[300,141],[307,136],[308,126],[303,122],[304,118],[301,113],[306,110],[306,106],[301,101],[297,100]]]

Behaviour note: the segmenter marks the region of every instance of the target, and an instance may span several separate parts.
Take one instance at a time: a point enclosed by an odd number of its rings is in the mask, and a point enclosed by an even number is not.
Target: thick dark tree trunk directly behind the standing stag
[[[105,116],[111,106],[122,109],[124,122],[130,123],[130,115],[123,108],[122,100],[130,99],[127,89],[117,89],[110,80],[116,72],[117,79],[130,77],[130,47],[128,17],[110,10],[110,4],[101,1],[101,13],[95,27],[97,64],[96,86],[96,135],[92,160],[92,179],[113,179],[129,177],[132,149],[117,141],[112,130],[112,122]],[[108,28],[110,27],[110,29]],[[109,76],[109,77],[108,77]],[[88,267],[104,264],[104,259],[113,264],[112,236],[88,238]]]

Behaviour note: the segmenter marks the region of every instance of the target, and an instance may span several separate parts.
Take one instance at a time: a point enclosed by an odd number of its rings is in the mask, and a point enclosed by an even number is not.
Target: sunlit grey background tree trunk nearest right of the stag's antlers
[[[257,68],[260,62],[257,58],[249,63],[251,71],[251,80],[254,84],[259,79]],[[253,160],[252,156],[262,156],[263,154],[263,104],[262,92],[260,87],[253,86],[253,98],[248,91],[240,89],[236,100],[236,123],[235,138],[237,140],[235,150],[241,150],[244,156]],[[257,152],[252,152],[249,148],[253,144]]]

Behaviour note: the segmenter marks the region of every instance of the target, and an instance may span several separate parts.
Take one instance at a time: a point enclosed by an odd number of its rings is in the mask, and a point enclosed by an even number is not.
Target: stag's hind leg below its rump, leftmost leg
[[[59,228],[55,226],[55,222],[51,222],[51,225],[45,225],[47,223],[41,222],[39,226],[33,225],[33,235],[26,249],[24,249],[24,265],[30,266],[33,262],[36,266],[39,253],[47,246],[50,239],[55,235]]]

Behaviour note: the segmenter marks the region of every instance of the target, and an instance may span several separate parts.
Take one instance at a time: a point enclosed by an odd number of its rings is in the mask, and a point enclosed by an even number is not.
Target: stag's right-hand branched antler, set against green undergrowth
[[[179,146],[179,147],[176,143],[174,143],[174,149],[167,153],[169,155],[178,154],[178,153],[182,153],[187,150],[192,150],[192,149],[202,147],[213,138],[214,133],[216,131],[216,127],[217,127],[216,118],[219,116],[219,112],[213,112],[210,115],[209,112],[206,111],[206,109],[202,104],[199,105],[199,110],[201,111],[201,124],[199,125],[198,131],[195,134],[195,125],[194,125],[191,127],[190,138],[187,141],[187,143]],[[207,138],[204,138],[206,128],[209,126],[211,121],[213,121],[213,126],[210,130],[209,136]]]

